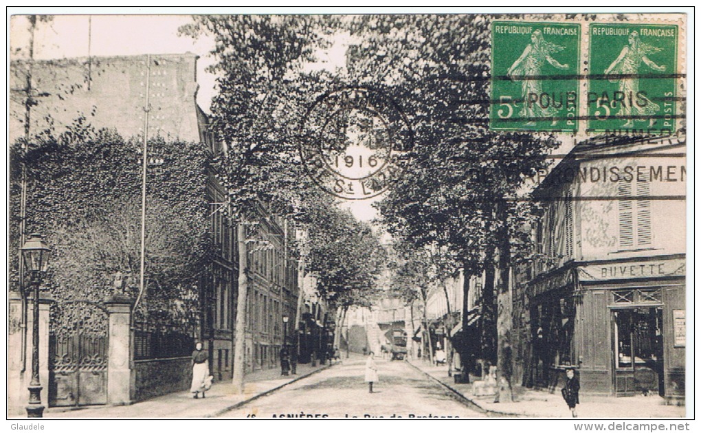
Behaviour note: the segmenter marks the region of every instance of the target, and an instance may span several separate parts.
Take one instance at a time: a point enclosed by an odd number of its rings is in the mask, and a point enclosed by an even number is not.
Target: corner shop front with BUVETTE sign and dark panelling
[[[583,393],[658,394],[683,404],[683,254],[572,262],[529,286],[536,385],[557,387],[566,366]]]

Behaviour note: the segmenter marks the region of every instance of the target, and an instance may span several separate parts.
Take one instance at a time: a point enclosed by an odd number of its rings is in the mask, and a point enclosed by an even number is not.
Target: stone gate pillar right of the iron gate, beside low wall
[[[114,297],[105,303],[109,314],[107,404],[131,404],[135,372],[131,368],[130,323],[132,301]]]

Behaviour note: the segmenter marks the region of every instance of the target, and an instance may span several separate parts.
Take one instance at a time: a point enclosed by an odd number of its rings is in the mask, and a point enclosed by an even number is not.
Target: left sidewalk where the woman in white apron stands
[[[315,367],[299,364],[295,376],[280,376],[279,368],[250,373],[245,377],[243,395],[234,395],[231,381],[227,380],[212,385],[205,399],[193,399],[189,390],[184,390],[128,406],[50,408],[43,415],[44,418],[211,418],[329,367],[328,363]]]

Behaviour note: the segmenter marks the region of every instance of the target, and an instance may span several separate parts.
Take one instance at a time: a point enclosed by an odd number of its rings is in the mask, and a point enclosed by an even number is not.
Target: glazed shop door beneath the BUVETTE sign
[[[612,314],[616,395],[664,395],[662,308],[620,308]]]

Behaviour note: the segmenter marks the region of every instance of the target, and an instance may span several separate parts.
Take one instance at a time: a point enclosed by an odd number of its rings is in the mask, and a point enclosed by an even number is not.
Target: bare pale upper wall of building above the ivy
[[[87,57],[12,64],[10,141],[25,133],[27,74],[33,93],[30,134],[47,128],[61,131],[79,116],[96,128],[114,128],[125,139],[144,133],[149,68],[147,57]],[[197,56],[152,55],[149,81],[149,137],[200,142],[196,93]]]

